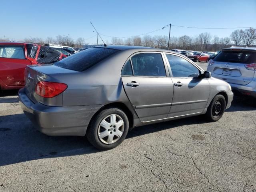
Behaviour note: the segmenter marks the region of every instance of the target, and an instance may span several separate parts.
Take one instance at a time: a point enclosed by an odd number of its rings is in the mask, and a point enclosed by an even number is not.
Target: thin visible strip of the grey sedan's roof
[[[109,49],[116,49],[116,50],[136,50],[136,51],[162,51],[162,52],[170,52],[170,53],[177,54],[177,52],[172,50],[167,50],[167,49],[158,49],[158,48],[142,47],[142,46],[129,46],[129,45],[108,45],[106,47],[97,46],[94,48],[109,48]]]

